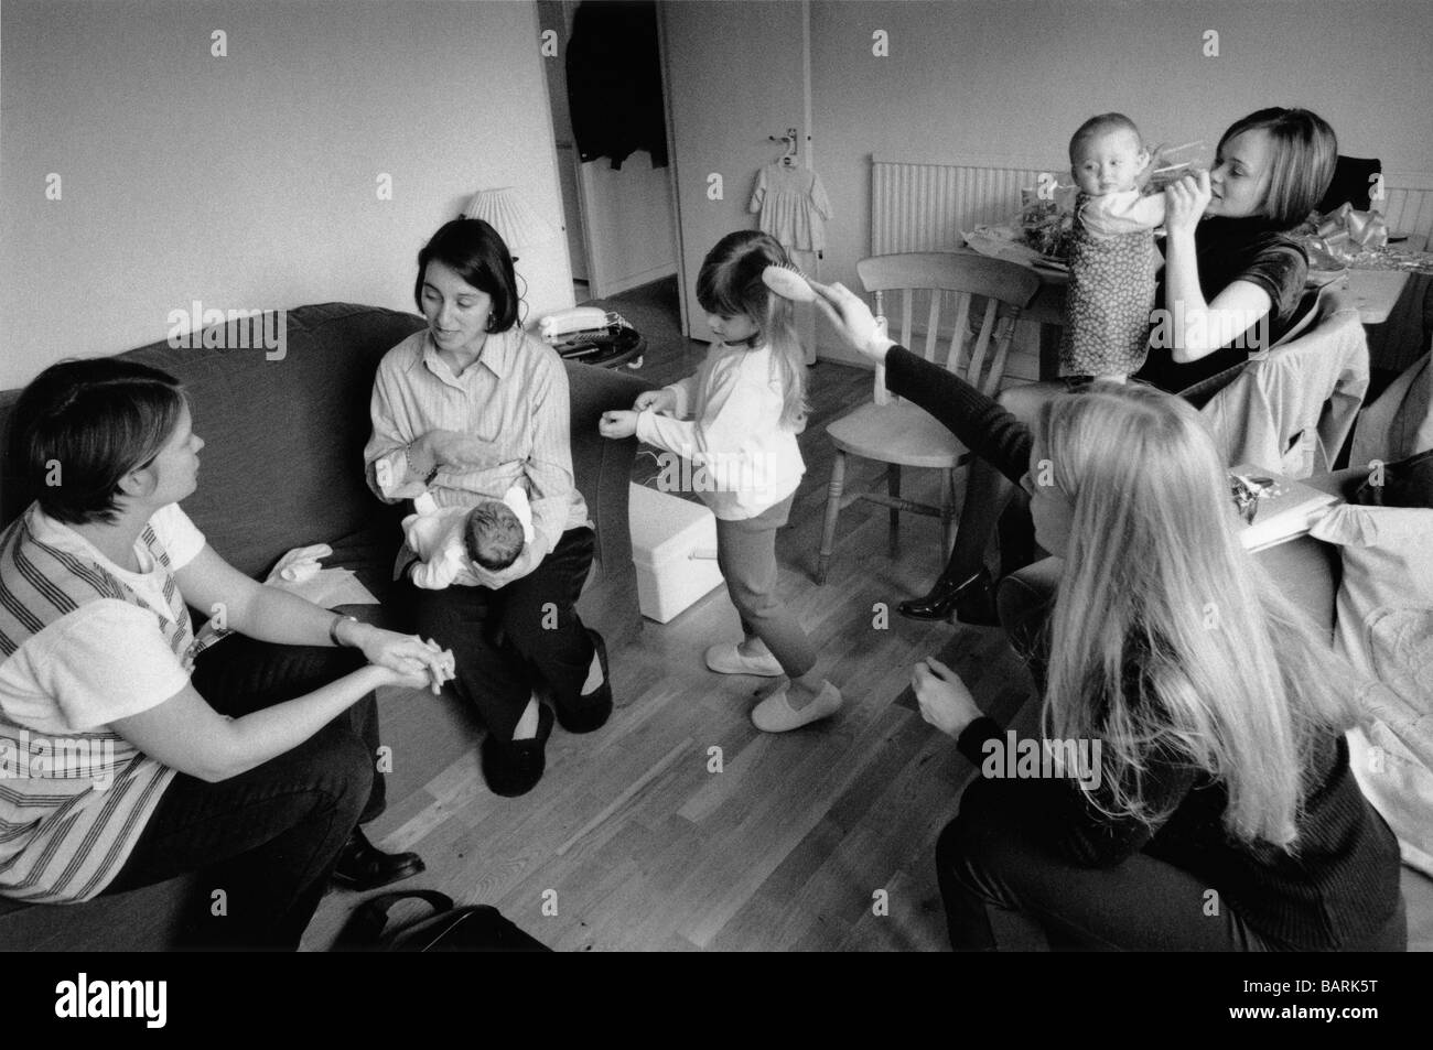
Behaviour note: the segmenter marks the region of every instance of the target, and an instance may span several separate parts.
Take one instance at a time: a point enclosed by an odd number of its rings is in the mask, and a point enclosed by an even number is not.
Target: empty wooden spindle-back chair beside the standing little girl
[[[946,368],[995,395],[1005,375],[1005,361],[1015,334],[1015,322],[1040,289],[1035,271],[1006,259],[995,259],[974,252],[906,252],[877,255],[856,264],[866,291],[876,294],[876,314],[884,317],[886,292],[900,292],[898,342],[911,344],[911,317],[917,294],[929,298],[923,357],[937,361],[943,299],[953,299],[954,328],[946,348]],[[972,297],[984,297],[983,311],[972,317]],[[947,315],[949,317],[949,315]],[[972,331],[973,324],[977,329]],[[825,501],[825,526],[817,560],[815,582],[825,583],[835,540],[835,520],[841,507],[854,500],[871,500],[890,507],[890,543],[894,552],[900,529],[900,511],[939,517],[944,524],[946,550],[954,543],[954,483],[956,467],[969,458],[969,450],[940,425],[929,413],[913,404],[893,398],[886,390],[886,370],[876,370],[876,400],[841,417],[827,428],[835,445],[831,484]],[[843,498],[845,487],[845,457],[860,456],[888,464],[887,494],[857,493]],[[931,467],[946,471],[941,506],[901,498],[901,467]]]

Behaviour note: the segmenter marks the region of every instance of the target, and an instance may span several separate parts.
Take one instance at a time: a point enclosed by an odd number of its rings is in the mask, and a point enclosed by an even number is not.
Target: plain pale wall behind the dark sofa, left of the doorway
[[[162,339],[192,299],[413,311],[418,248],[479,188],[522,186],[562,225],[532,3],[6,0],[0,19],[0,387]],[[572,305],[560,238],[519,268],[530,319]]]

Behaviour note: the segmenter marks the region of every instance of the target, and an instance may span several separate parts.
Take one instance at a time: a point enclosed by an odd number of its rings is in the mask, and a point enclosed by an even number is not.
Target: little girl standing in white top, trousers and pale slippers
[[[788,266],[768,233],[738,231],[708,252],[696,299],[719,342],[695,375],[609,411],[603,437],[636,434],[692,461],[716,516],[716,563],[741,615],[741,643],[706,650],[722,675],[787,676],[751,712],[758,729],[784,732],[834,715],[841,693],[815,672],[817,652],[777,597],[777,529],[805,473],[797,433],[805,425],[805,368],[791,304],[762,284]]]

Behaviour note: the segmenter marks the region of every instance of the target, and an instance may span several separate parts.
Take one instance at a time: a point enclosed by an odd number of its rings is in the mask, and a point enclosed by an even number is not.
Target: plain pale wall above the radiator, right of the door
[[[871,54],[877,29],[890,57]],[[1219,57],[1202,54],[1208,29]],[[811,36],[815,166],[837,215],[823,274],[857,288],[873,153],[1058,163],[1111,109],[1212,150],[1245,113],[1305,106],[1340,152],[1433,170],[1427,0],[815,0]],[[838,355],[830,334],[823,352]]]

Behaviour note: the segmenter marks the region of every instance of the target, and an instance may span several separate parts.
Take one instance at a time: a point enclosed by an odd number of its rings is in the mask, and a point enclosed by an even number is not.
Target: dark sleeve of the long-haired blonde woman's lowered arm
[[[1030,738],[1027,738],[1030,739]],[[1003,821],[1032,828],[1060,857],[1085,868],[1111,868],[1145,848],[1149,839],[1194,789],[1198,771],[1168,755],[1155,755],[1141,774],[1141,796],[1164,817],[1145,824],[1134,817],[1112,817],[1099,752],[1091,748],[1089,769],[1076,771],[1093,785],[1095,801],[1070,776],[1010,775],[1016,756],[1006,752],[1019,743],[992,718],[977,718],[960,733],[956,748],[974,764],[982,779],[966,789],[962,808],[993,806]]]

